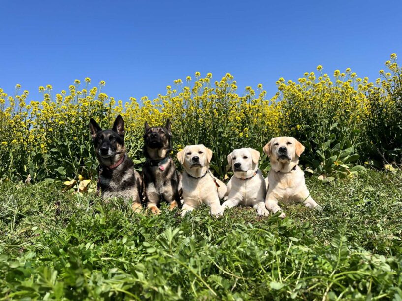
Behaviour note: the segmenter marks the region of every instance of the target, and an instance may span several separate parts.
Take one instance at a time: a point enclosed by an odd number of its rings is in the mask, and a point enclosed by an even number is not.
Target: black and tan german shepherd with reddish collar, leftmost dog
[[[122,116],[117,116],[110,130],[102,130],[93,118],[89,128],[99,161],[98,189],[102,191],[102,198],[123,197],[132,202],[133,210],[140,211],[142,181],[126,154]]]

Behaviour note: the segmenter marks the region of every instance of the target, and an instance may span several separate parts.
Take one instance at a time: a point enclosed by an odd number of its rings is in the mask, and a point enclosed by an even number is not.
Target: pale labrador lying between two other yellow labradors
[[[241,204],[253,207],[258,215],[269,215],[265,208],[265,180],[258,169],[259,159],[260,152],[252,148],[235,149],[227,156],[233,176],[227,183],[228,199],[223,203],[222,211]]]

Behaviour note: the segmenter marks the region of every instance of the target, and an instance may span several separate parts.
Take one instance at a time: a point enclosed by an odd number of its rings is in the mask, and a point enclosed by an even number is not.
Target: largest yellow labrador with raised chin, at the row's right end
[[[322,210],[311,197],[306,187],[304,172],[298,166],[304,146],[293,137],[272,138],[263,148],[270,157],[271,170],[268,173],[268,192],[265,206],[273,213],[282,211],[278,201],[296,201],[310,209]],[[286,215],[282,212],[280,217]]]

